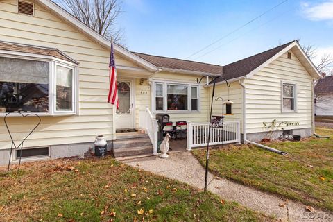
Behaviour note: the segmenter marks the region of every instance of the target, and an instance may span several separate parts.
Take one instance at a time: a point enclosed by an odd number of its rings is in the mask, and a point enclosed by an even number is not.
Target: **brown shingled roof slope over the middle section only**
[[[222,74],[223,68],[220,65],[212,65],[203,62],[194,62],[189,60],[181,60],[177,58],[169,58],[164,56],[152,56],[144,53],[135,53],[135,55],[144,58],[148,62],[151,62],[156,67],[162,69],[181,69],[196,71],[202,74]]]

